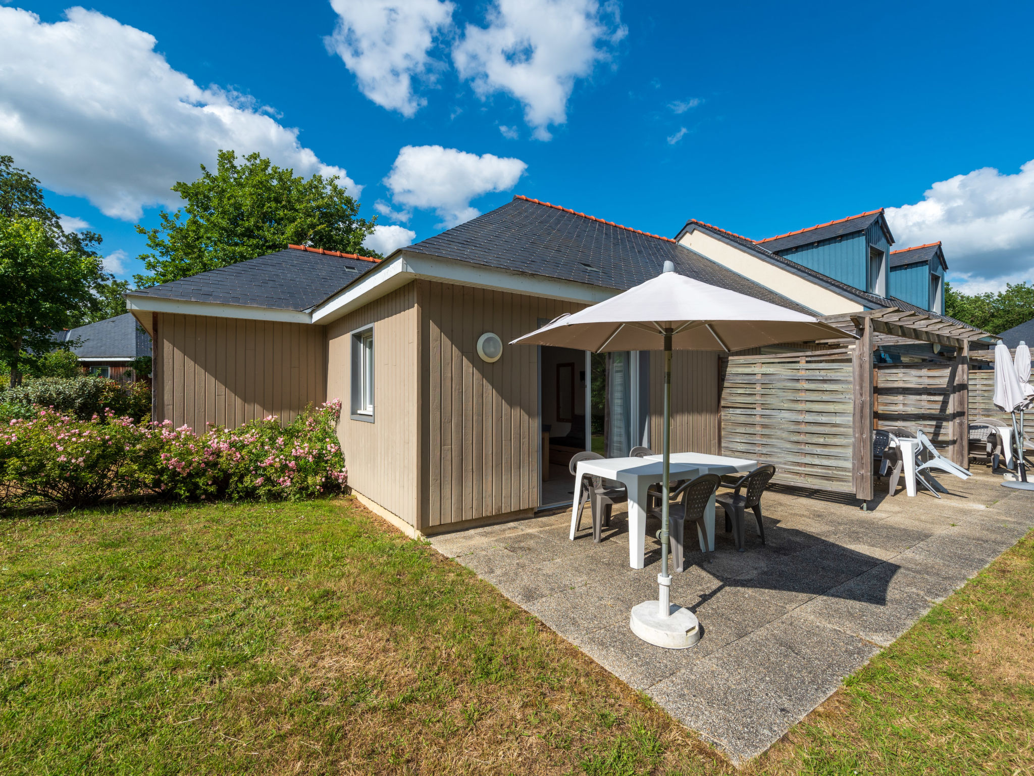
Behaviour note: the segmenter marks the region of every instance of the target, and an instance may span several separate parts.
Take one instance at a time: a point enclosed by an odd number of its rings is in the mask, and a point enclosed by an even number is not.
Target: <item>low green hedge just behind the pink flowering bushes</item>
[[[151,414],[151,389],[146,383],[86,376],[28,380],[0,393],[0,401],[21,408],[53,409],[78,420],[90,420],[94,415],[126,415],[140,422]]]

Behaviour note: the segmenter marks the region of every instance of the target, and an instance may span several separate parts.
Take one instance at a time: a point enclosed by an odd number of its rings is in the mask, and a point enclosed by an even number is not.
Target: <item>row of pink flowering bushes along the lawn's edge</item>
[[[61,508],[129,494],[182,500],[308,499],[346,482],[335,429],[339,400],[281,426],[275,416],[239,428],[79,421],[42,410],[0,429],[0,499],[37,497]]]

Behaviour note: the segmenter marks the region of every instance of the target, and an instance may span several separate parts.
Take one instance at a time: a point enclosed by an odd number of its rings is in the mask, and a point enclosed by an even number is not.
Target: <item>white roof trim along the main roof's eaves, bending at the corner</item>
[[[493,291],[596,304],[618,292],[601,286],[513,272],[454,259],[405,253],[384,262],[372,272],[312,310],[312,323],[327,324],[378,299],[412,280],[423,278],[475,286]]]

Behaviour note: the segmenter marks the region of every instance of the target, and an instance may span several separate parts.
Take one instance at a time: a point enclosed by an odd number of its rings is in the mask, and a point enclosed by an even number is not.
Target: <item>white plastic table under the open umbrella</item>
[[[757,468],[756,460],[746,458],[728,458],[722,455],[706,453],[674,453],[671,456],[669,475],[672,480],[693,479],[701,474],[733,474],[750,472]],[[581,495],[581,482],[584,476],[603,477],[616,480],[629,491],[629,565],[632,568],[642,568],[644,565],[644,547],[646,543],[646,491],[649,486],[660,482],[664,476],[664,464],[660,455],[649,455],[644,458],[596,458],[579,461],[575,470],[575,498],[571,507],[571,539],[575,538],[575,526],[578,524],[578,498]],[[708,505],[707,548],[714,548],[714,502]]]

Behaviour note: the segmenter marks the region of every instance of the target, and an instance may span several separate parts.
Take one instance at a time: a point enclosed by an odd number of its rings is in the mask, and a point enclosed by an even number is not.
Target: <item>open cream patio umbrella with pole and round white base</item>
[[[811,316],[778,304],[709,286],[675,273],[672,262],[664,272],[622,294],[560,316],[541,329],[513,341],[607,353],[664,351],[664,455],[661,499],[661,573],[658,600],[632,609],[632,630],[657,645],[683,649],[699,636],[697,619],[670,603],[668,573],[668,497],[671,466],[672,350],[736,351],[777,342],[842,338],[844,332]]]

